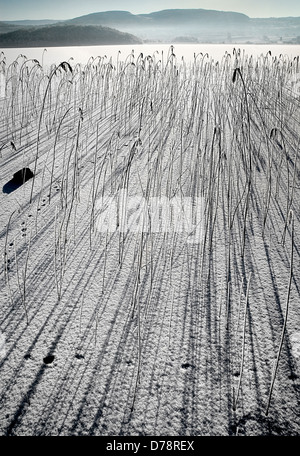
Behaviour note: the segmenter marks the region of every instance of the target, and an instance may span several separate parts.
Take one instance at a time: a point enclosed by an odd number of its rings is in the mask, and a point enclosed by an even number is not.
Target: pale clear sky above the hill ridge
[[[112,10],[140,14],[176,8],[236,11],[250,17],[300,17],[300,0],[0,0],[0,21],[72,19]]]

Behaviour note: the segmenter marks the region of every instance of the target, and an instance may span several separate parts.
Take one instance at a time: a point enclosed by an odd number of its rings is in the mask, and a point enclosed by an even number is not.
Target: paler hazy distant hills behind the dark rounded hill
[[[286,41],[300,35],[300,18],[250,18],[245,14],[205,9],[169,9],[149,14],[105,11],[76,17],[68,24],[105,25],[133,33],[143,40],[169,42],[193,36],[200,42]]]

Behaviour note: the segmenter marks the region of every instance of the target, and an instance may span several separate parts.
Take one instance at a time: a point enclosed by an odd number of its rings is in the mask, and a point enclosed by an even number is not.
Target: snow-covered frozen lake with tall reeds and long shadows
[[[239,47],[0,61],[0,435],[299,436],[299,46]]]

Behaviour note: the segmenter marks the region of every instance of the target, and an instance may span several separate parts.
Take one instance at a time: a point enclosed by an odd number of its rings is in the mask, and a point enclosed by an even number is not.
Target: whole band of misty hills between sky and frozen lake
[[[299,44],[300,18],[257,18],[238,12],[165,9],[150,14],[111,10],[65,21],[0,23],[2,47],[130,43]]]

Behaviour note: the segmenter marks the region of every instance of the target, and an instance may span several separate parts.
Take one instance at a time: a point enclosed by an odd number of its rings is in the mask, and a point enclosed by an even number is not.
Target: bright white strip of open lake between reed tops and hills
[[[118,55],[119,60],[125,60],[126,57],[134,50],[135,56],[138,57],[140,53],[143,55],[153,55],[156,51],[161,57],[168,55],[170,44],[141,44],[141,45],[118,45],[118,46],[68,46],[68,47],[49,47],[44,52],[44,48],[6,48],[2,50],[6,57],[6,64],[11,64],[20,54],[25,55],[29,59],[37,59],[44,65],[52,63],[59,64],[62,61],[68,61],[71,57],[74,63],[87,63],[90,57],[106,56],[107,59],[112,59],[116,62]],[[208,53],[209,57],[214,60],[221,60],[224,54],[232,53],[233,49],[241,49],[245,54],[259,56],[271,51],[272,56],[279,56],[280,54],[287,55],[294,58],[300,55],[300,45],[286,45],[286,44],[176,44],[174,45],[174,53],[177,57],[177,62],[180,63],[182,57],[185,62],[190,62],[194,59],[194,54]],[[120,53],[119,53],[120,51]],[[72,63],[72,60],[70,61]]]

